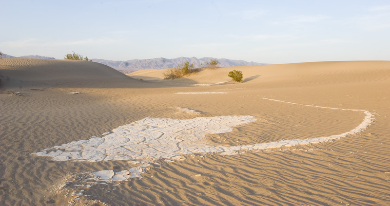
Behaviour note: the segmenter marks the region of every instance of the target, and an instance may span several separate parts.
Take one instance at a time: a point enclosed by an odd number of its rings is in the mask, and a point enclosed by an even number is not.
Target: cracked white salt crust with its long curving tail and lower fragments
[[[267,99],[267,98],[263,98]],[[297,145],[316,144],[333,141],[347,135],[356,134],[366,129],[374,119],[369,111],[338,109],[312,105],[297,104],[275,99],[268,99],[288,104],[307,107],[317,107],[332,110],[347,110],[364,112],[361,124],[351,131],[328,137],[315,137],[309,139],[280,140],[276,142],[259,143],[241,146],[218,146],[209,143],[203,138],[206,134],[225,133],[232,131],[232,127],[256,121],[254,116],[217,116],[197,117],[194,119],[178,120],[147,117],[128,125],[114,129],[112,133],[106,132],[103,137],[93,137],[89,140],[80,140],[54,146],[42,150],[38,156],[49,156],[55,161],[110,161],[131,160],[131,163],[146,163],[130,170],[114,172],[102,170],[93,172],[97,180],[124,181],[130,178],[142,178],[140,175],[145,169],[151,167],[149,162],[157,159],[183,160],[184,155],[193,153],[219,153],[221,155],[234,155],[240,151],[276,149],[293,147]]]

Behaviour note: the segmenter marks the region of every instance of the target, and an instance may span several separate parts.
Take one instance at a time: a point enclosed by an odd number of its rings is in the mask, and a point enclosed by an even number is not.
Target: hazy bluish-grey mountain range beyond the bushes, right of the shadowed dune
[[[253,61],[247,62],[244,60],[231,60],[226,58],[212,58],[212,57],[204,57],[204,58],[178,57],[172,59],[161,57],[161,58],[152,58],[152,59],[133,59],[127,61],[112,61],[112,60],[95,58],[92,59],[92,61],[105,64],[122,73],[128,74],[143,69],[174,68],[176,65],[186,61],[190,62],[190,64],[194,64],[195,67],[199,67],[200,64],[203,63],[203,65],[205,65],[205,63],[210,62],[211,59],[217,59],[220,62],[221,67],[264,65],[264,63],[257,63]]]

